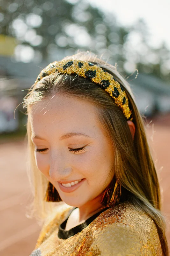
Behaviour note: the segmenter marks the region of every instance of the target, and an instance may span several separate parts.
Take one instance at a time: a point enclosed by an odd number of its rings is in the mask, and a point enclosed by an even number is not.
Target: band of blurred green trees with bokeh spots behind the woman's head
[[[117,24],[86,0],[0,0],[0,32],[15,37],[18,61],[52,62],[81,51],[92,51],[124,74],[153,73],[170,78],[170,51],[149,45],[143,20],[133,27]]]

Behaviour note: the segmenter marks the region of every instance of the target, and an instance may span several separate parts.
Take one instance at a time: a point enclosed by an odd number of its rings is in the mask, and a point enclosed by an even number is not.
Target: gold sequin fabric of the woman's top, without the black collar
[[[63,205],[55,210],[33,252],[39,250],[40,256],[162,256],[154,221],[129,203],[107,209],[78,234],[59,239],[58,226],[71,208]]]

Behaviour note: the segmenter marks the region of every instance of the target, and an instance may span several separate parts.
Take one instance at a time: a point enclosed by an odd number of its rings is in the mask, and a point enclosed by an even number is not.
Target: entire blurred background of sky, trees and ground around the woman
[[[116,65],[131,85],[146,117],[170,242],[169,11],[169,0],[0,0],[1,256],[29,255],[40,232],[27,213],[23,97],[44,67],[78,51]]]

